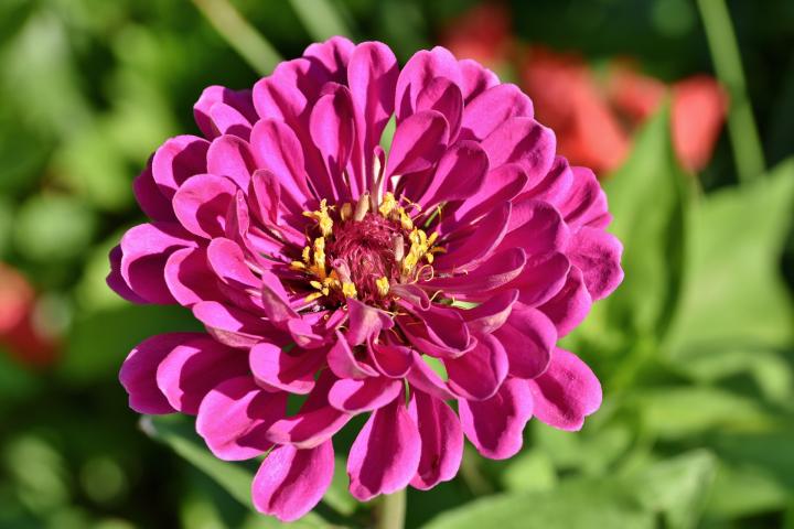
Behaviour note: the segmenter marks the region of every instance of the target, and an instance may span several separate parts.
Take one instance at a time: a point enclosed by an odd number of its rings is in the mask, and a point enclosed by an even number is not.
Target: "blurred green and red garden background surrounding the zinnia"
[[[468,451],[409,493],[407,526],[794,528],[791,0],[1,1],[0,528],[277,526],[247,466],[127,408],[129,349],[198,326],[118,299],[107,252],[205,86],[337,33],[403,62],[442,43],[519,84],[625,245],[624,284],[566,338],[602,410],[581,433],[532,421],[511,461]],[[371,522],[343,474],[300,526]]]

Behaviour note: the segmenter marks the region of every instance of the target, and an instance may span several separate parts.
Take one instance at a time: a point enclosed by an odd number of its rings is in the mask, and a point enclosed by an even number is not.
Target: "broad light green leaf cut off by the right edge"
[[[780,258],[793,205],[794,160],[698,205],[685,294],[667,344],[674,355],[792,342],[794,306],[780,276]]]

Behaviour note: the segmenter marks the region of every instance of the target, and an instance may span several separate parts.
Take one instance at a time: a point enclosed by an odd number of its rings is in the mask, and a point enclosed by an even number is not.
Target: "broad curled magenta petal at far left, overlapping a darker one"
[[[173,303],[163,273],[165,262],[175,250],[194,246],[191,235],[176,223],[130,228],[121,238],[121,277],[132,292],[149,303]]]

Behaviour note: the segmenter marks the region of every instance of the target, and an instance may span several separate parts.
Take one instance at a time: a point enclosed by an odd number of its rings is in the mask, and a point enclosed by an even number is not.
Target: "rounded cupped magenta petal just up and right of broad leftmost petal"
[[[225,235],[226,214],[237,193],[234,182],[213,174],[197,174],[176,191],[173,208],[182,226],[211,239]]]

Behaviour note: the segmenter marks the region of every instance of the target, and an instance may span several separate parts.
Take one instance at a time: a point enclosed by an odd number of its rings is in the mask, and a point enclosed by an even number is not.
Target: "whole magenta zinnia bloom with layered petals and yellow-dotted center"
[[[555,155],[516,86],[442,47],[400,71],[386,45],[335,37],[253,90],[207,88],[195,117],[203,137],[168,140],[137,179],[152,222],[108,282],[207,334],[144,341],[120,378],[141,413],[197,414],[221,458],[270,451],[260,511],[316,505],[360,413],[347,473],[367,500],[451,479],[464,436],[505,458],[532,415],[577,430],[599,408],[555,344],[620,283],[621,245],[596,176]]]

